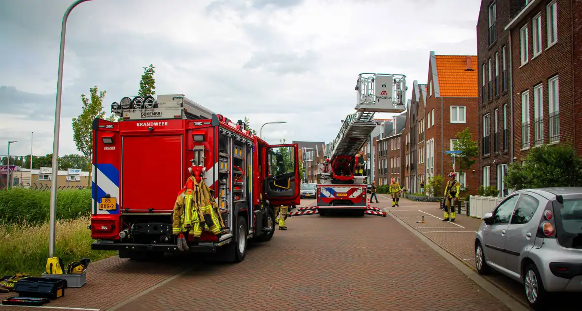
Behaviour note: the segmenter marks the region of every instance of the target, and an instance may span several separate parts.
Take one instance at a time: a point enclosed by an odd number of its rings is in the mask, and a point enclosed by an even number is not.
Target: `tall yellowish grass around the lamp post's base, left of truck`
[[[87,216],[56,223],[55,256],[66,266],[83,257],[91,262],[116,255],[116,252],[91,250],[94,241],[87,226]],[[38,276],[46,272],[48,258],[48,223],[0,222],[0,276],[27,273]]]

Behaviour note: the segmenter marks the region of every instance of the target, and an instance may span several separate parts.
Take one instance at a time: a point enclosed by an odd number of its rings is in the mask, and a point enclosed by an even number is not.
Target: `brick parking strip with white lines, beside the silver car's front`
[[[465,211],[463,214],[456,215],[455,222],[443,222],[443,211],[439,208],[439,203],[434,202],[413,202],[408,199],[400,199],[399,207],[391,207],[392,199],[386,195],[380,195],[381,199],[390,204],[386,204],[386,208],[390,213],[398,217],[400,220],[406,222],[411,227],[421,232],[424,236],[432,242],[437,243],[441,248],[445,249],[451,255],[463,261],[475,271],[475,233],[481,225],[480,219],[467,217]],[[384,205],[384,204],[382,204]],[[417,224],[417,221],[422,219],[424,215],[424,224]],[[516,281],[506,277],[505,275],[492,271],[491,275],[485,278],[502,288],[517,301],[527,305],[526,298],[523,294],[523,287]],[[573,295],[556,295],[556,301],[568,302],[574,301]],[[567,311],[578,309],[567,309],[566,307],[556,307],[552,309],[555,311]]]

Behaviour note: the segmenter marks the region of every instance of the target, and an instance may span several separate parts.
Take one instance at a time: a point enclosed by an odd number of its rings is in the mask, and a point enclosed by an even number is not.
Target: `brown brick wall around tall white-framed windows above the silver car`
[[[572,19],[570,17],[569,1],[558,1],[558,42],[548,48],[546,5],[551,1],[542,1],[540,5],[524,16],[511,30],[512,40],[512,76],[513,76],[513,121],[514,121],[514,157],[523,161],[529,148],[522,146],[521,94],[529,91],[528,109],[530,112],[530,128],[526,133],[530,139],[530,148],[534,146],[534,86],[543,86],[543,143],[549,143],[548,122],[548,79],[559,75],[559,110],[560,110],[560,142],[566,142],[574,137],[575,115],[572,81]],[[532,19],[541,12],[541,47],[540,55],[533,54]],[[527,24],[528,58],[521,65],[520,29]]]

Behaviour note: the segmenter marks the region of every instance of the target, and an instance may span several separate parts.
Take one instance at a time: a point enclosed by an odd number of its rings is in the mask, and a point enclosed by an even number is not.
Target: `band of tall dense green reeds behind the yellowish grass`
[[[26,188],[0,191],[0,221],[24,222],[30,225],[48,221],[51,192]],[[91,189],[58,190],[56,218],[69,220],[91,212]]]

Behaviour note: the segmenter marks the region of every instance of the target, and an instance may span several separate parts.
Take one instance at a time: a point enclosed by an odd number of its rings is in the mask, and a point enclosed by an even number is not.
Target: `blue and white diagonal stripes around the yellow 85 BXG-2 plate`
[[[97,179],[97,185],[95,185],[95,179]],[[93,214],[119,214],[119,169],[113,166],[113,164],[93,164],[91,189],[91,207],[93,207]],[[106,193],[116,198],[117,203],[113,211],[102,211],[98,208],[101,198],[105,197]]]

